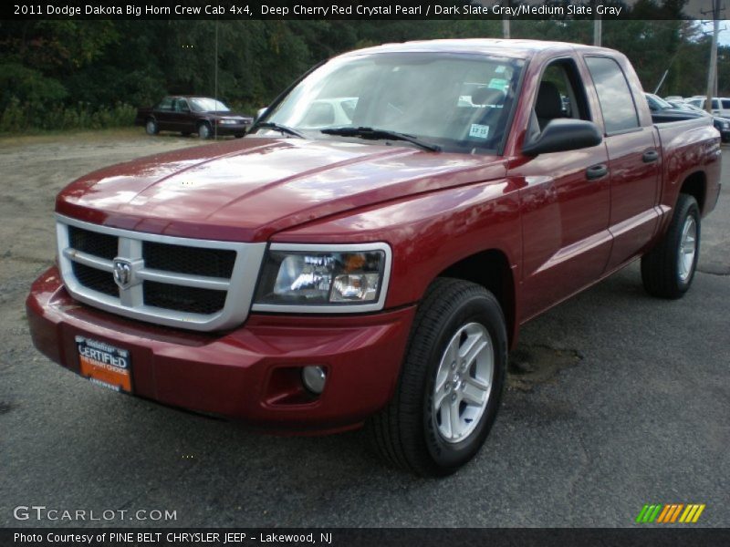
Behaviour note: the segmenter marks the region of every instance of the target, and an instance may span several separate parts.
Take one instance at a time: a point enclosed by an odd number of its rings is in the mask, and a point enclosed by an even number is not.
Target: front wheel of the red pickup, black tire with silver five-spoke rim
[[[444,476],[482,447],[506,375],[506,326],[480,285],[439,278],[414,319],[395,396],[372,419],[381,455],[423,476]]]

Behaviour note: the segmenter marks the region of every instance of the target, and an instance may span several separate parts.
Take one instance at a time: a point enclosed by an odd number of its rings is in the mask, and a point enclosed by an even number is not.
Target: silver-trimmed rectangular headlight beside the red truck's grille
[[[266,254],[255,311],[371,311],[385,302],[391,248],[385,243],[275,243]]]

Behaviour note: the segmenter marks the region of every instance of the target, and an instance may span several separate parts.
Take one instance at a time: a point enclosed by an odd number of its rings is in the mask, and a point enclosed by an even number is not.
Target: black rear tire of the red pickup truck
[[[694,256],[689,266],[683,265],[681,255],[689,242],[683,238],[688,224],[694,222]],[[691,230],[691,228],[690,228]],[[679,194],[669,229],[649,253],[641,257],[641,281],[652,296],[681,298],[690,288],[700,256],[700,208],[694,197]],[[687,261],[689,262],[689,261]],[[686,264],[686,263],[685,263]]]

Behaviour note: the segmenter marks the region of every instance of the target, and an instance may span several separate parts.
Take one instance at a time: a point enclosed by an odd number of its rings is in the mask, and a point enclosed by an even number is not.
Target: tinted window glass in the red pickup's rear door
[[[619,64],[609,57],[586,57],[586,64],[599,96],[606,133],[638,128],[631,88]]]

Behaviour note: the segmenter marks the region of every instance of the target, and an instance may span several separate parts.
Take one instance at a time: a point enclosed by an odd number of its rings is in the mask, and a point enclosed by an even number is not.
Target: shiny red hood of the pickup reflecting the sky
[[[266,241],[306,222],[506,174],[501,158],[337,140],[243,140],[95,171],[59,214],[140,232]]]

